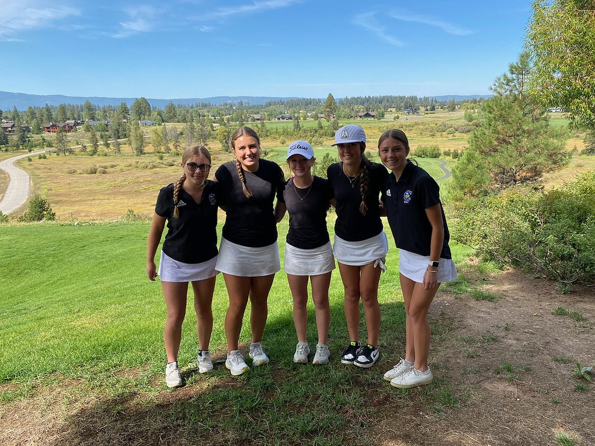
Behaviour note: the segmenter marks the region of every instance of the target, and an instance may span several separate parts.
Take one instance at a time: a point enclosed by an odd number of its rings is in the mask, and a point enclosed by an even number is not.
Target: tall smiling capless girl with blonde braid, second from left
[[[249,370],[238,348],[248,299],[252,334],[249,356],[253,366],[268,363],[261,338],[267,322],[268,292],[281,269],[273,202],[281,193],[284,175],[277,164],[260,158],[260,139],[250,127],[233,133],[231,149],[236,159],[215,172],[221,184],[221,207],[226,211],[216,268],[223,272],[229,295],[226,367],[237,376]]]

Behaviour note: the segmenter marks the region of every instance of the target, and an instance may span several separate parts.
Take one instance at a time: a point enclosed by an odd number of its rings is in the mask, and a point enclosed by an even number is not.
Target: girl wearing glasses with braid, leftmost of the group
[[[183,171],[180,179],[159,191],[147,243],[147,275],[152,281],[157,275],[161,278],[167,307],[164,341],[168,387],[182,385],[177,361],[189,282],[194,291],[198,371],[206,373],[213,369],[209,341],[213,328],[211,302],[218,274],[215,263],[219,186],[206,179],[211,168],[211,153],[205,147],[187,147],[180,166]],[[155,253],[166,222],[167,234],[157,272]]]

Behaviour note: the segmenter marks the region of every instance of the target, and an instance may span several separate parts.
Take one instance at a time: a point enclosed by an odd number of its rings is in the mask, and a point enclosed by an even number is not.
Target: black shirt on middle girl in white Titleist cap
[[[287,243],[299,249],[314,249],[328,243],[328,201],[333,198],[333,189],[328,180],[314,177],[306,189],[295,188],[293,178],[284,185],[281,202],[289,213]]]

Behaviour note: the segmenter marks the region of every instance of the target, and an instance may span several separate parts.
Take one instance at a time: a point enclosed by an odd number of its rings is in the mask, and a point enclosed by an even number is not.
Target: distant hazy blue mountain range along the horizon
[[[433,96],[437,100],[449,100],[455,99],[456,101],[473,98],[489,98],[491,95],[443,95]],[[432,96],[430,96],[432,97]],[[126,102],[129,106],[132,105],[134,100],[137,98],[102,98],[98,96],[64,96],[64,95],[28,95],[27,93],[11,93],[11,92],[0,92],[0,109],[5,111],[12,111],[13,107],[17,107],[17,110],[24,111],[29,106],[43,107],[46,104],[58,106],[61,103],[65,104],[80,104],[82,105],[86,100],[89,100],[93,105],[104,106],[114,105],[118,106],[122,102]],[[157,108],[165,108],[165,106],[171,102],[174,105],[194,105],[195,103],[208,102],[212,105],[221,105],[224,103],[238,103],[240,100],[243,103],[250,103],[252,105],[262,105],[270,100],[287,100],[287,99],[299,99],[296,97],[292,98],[280,98],[280,97],[269,97],[269,96],[212,96],[211,98],[184,98],[184,99],[152,99],[146,98],[151,104]],[[321,98],[324,100],[325,98]]]

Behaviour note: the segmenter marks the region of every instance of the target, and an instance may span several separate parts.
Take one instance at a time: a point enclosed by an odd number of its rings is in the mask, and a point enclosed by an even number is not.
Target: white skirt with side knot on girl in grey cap
[[[333,255],[343,265],[362,266],[375,260],[381,260],[384,265],[387,252],[389,252],[389,241],[384,231],[361,241],[343,240],[338,235],[334,238]]]

